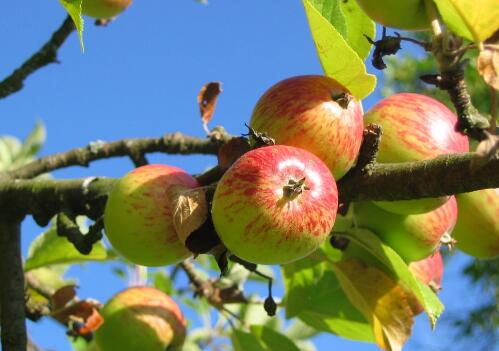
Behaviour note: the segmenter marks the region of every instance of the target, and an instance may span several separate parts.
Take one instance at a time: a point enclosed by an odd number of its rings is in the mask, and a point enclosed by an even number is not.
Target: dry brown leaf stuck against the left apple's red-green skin
[[[173,204],[173,225],[185,244],[189,235],[208,218],[206,189],[177,186],[170,195]]]

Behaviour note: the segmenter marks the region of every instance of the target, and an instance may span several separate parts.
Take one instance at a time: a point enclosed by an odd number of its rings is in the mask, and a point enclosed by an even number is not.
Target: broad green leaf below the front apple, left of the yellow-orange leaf
[[[373,342],[365,317],[350,303],[331,262],[310,258],[282,267],[286,317],[299,317],[309,326],[360,341]]]

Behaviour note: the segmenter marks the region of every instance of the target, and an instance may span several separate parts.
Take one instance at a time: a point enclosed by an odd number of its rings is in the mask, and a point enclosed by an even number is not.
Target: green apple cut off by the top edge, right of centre
[[[424,0],[357,0],[375,22],[405,30],[429,29]]]

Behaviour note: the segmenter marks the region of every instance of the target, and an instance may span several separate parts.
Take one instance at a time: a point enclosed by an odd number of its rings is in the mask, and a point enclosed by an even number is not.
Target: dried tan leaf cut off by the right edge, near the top
[[[488,85],[499,90],[499,31],[485,41],[477,58],[477,69]]]

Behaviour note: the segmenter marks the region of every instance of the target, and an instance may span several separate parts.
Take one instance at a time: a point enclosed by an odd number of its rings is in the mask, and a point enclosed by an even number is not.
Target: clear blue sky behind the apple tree
[[[0,77],[12,72],[37,50],[65,18],[58,1],[0,3]],[[230,133],[245,131],[258,97],[275,82],[294,75],[321,74],[300,1],[135,1],[106,28],[86,22],[85,53],[72,35],[59,52],[61,64],[46,67],[26,80],[25,88],[0,101],[0,135],[25,137],[36,120],[48,130],[43,155],[83,146],[95,140],[159,136],[182,131],[204,136],[196,97],[203,84],[223,82],[223,93],[210,127]],[[407,46],[407,45],[406,45]],[[369,67],[372,71],[372,67]],[[379,95],[364,101],[367,110]],[[151,162],[170,163],[198,173],[216,163],[214,157],[154,155]],[[58,178],[119,177],[132,167],[128,159],[54,172]],[[41,232],[28,219],[23,224],[24,253]],[[469,286],[460,279],[464,255],[451,261],[442,299],[459,308]],[[107,300],[125,282],[111,273],[112,264],[75,268],[79,295]],[[468,302],[466,302],[468,303]],[[196,317],[188,318],[195,322]],[[64,331],[50,321],[29,324],[34,340],[44,348],[69,350]],[[419,317],[407,350],[438,342],[449,329],[431,333]],[[376,350],[323,334],[318,350]],[[427,348],[428,349],[428,348]]]

